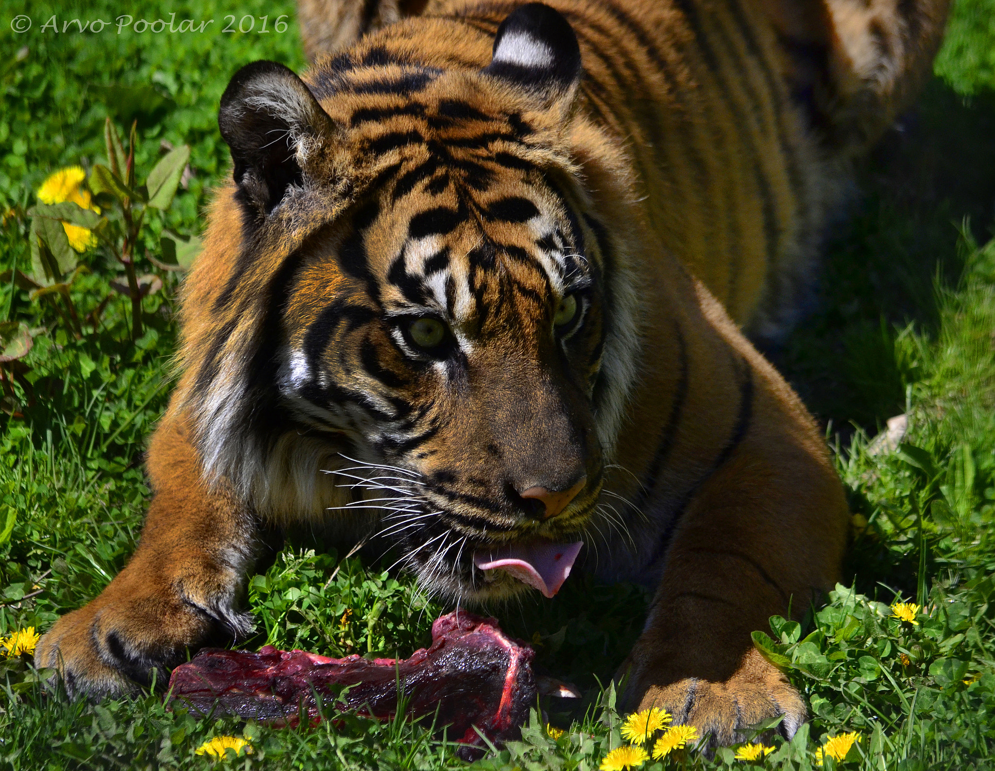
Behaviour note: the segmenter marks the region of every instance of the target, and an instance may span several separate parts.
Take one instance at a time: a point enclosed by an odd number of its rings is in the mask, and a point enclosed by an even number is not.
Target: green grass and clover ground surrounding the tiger
[[[66,11],[5,0],[0,272],[28,270],[25,211],[35,191],[56,168],[102,162],[108,115],[119,126],[138,119],[145,172],[160,141],[192,147],[194,178],[152,218],[144,249],[158,254],[163,228],[198,233],[207,191],[227,168],[216,106],[231,74],[261,58],[302,67],[293,23],[284,34],[223,34],[224,17],[254,14],[258,24],[269,15],[272,25],[287,13],[293,22],[292,6],[146,0],[122,11],[93,0]],[[53,13],[61,25],[122,12],[215,24],[185,36],[40,30]],[[34,22],[25,35],[9,27],[20,13]],[[957,3],[937,78],[863,166],[852,216],[830,234],[812,312],[771,354],[827,425],[855,514],[847,585],[801,625],[775,619],[757,636],[813,714],[793,741],[777,742],[771,768],[813,767],[814,749],[844,731],[863,736],[847,768],[995,767],[993,19],[991,0]],[[171,383],[176,275],[139,261],[165,286],[143,301],[145,331],[132,342],[129,300],[110,288],[119,265],[100,251],[84,263],[89,273],[72,289],[80,315],[110,299],[83,339],[53,304],[9,278],[0,287],[0,319],[42,330],[17,365],[17,398],[0,414],[0,635],[44,631],[96,596],[131,552],[149,496],[141,454]],[[869,438],[899,413],[910,426],[902,446],[869,453]],[[406,656],[427,642],[440,607],[407,577],[382,573],[375,561],[343,562],[327,548],[298,534],[252,579],[259,634],[251,645]],[[917,626],[890,616],[896,598],[925,606]],[[639,634],[646,603],[636,587],[573,577],[555,601],[526,603],[501,621],[536,642],[542,667],[596,695]],[[313,730],[278,730],[166,711],[157,695],[90,704],[43,696],[23,659],[0,660],[0,688],[3,768],[207,768],[195,749],[221,734],[245,734],[255,747],[233,767],[463,765],[424,721],[342,715]],[[594,769],[620,740],[610,692],[572,725],[555,711],[550,719],[568,729],[562,737],[551,739],[533,718],[522,742],[481,765]],[[667,761],[682,764],[743,765],[729,750]]]

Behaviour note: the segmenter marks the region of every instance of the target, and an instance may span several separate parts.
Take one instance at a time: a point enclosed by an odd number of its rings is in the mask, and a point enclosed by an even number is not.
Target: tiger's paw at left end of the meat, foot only
[[[212,615],[172,591],[141,596],[111,583],[56,622],[38,643],[35,665],[57,669],[71,697],[133,693],[153,677],[164,685],[166,668],[185,661],[188,649],[231,639],[232,620],[238,637],[251,630],[246,615],[230,614],[224,622]]]

